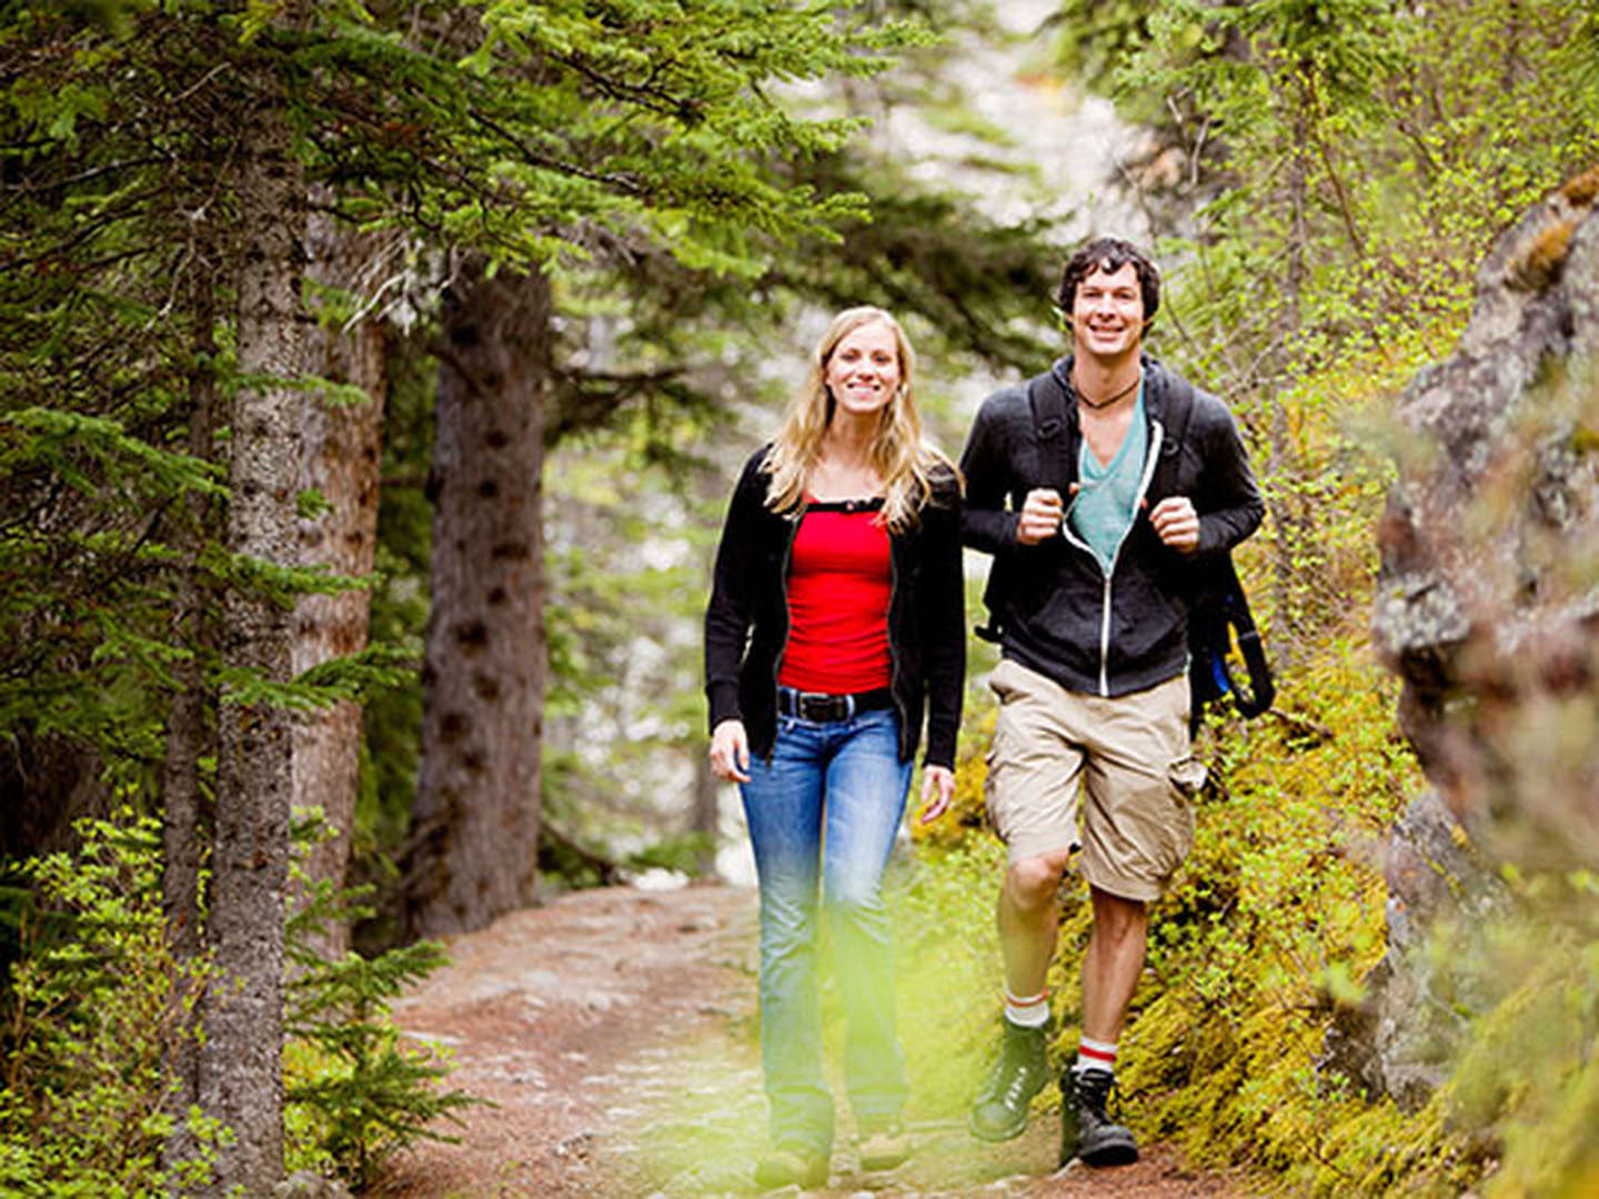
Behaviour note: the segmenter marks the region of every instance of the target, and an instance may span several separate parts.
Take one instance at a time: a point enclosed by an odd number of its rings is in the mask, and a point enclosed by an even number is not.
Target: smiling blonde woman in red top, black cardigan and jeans
[[[777,440],[745,464],[705,614],[710,763],[740,783],[760,874],[768,1188],[828,1177],[819,876],[860,1162],[910,1153],[879,882],[924,713],[923,820],[948,807],[966,673],[959,476],[921,441],[913,369],[889,313],[833,318]]]

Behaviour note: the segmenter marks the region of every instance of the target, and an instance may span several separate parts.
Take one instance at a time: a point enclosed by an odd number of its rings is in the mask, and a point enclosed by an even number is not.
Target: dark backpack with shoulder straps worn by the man
[[[1188,417],[1194,406],[1193,384],[1177,374],[1167,374],[1167,379],[1170,380],[1166,409],[1167,435],[1161,443],[1161,464],[1156,467],[1156,475],[1166,468],[1167,462],[1175,468],[1177,454],[1188,433]],[[1027,398],[1033,409],[1033,432],[1038,436],[1039,460],[1046,464],[1046,473],[1059,470],[1059,464],[1063,462],[1060,440],[1067,424],[1067,390],[1054,371],[1046,371],[1028,380]],[[1052,480],[1051,486],[1065,496],[1065,475]],[[988,585],[983,590],[988,623],[977,628],[977,635],[988,641],[999,641],[1003,636],[1011,595],[1009,576],[1014,568],[1015,563],[1011,558],[995,555],[988,569]],[[1233,697],[1233,707],[1246,719],[1266,711],[1276,697],[1271,665],[1266,662],[1265,644],[1249,611],[1244,585],[1233,568],[1233,555],[1230,552],[1209,555],[1194,564],[1191,574],[1194,584],[1188,607],[1190,732],[1199,727],[1204,707],[1223,695]],[[1242,676],[1234,670],[1238,659],[1242,659]],[[1242,686],[1246,679],[1247,687]]]

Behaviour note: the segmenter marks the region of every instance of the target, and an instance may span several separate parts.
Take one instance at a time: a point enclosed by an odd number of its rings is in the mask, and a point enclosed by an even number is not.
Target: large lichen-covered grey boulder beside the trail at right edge
[[[1498,866],[1599,865],[1599,166],[1495,246],[1455,352],[1401,395],[1374,631],[1433,791],[1388,846],[1390,951],[1329,1049],[1407,1106],[1471,996],[1422,951]]]

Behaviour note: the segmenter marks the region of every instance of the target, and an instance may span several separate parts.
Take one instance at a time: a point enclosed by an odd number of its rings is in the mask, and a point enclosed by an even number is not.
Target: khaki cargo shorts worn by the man
[[[1103,699],[1003,659],[988,686],[988,819],[1011,862],[1081,847],[1092,886],[1164,895],[1193,847],[1190,799],[1206,774],[1188,743],[1188,676]]]

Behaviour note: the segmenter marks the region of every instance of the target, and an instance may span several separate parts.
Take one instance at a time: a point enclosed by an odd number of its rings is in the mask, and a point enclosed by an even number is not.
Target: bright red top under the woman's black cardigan
[[[841,695],[886,687],[894,566],[878,504],[812,502],[788,560],[788,644],[777,681]]]

